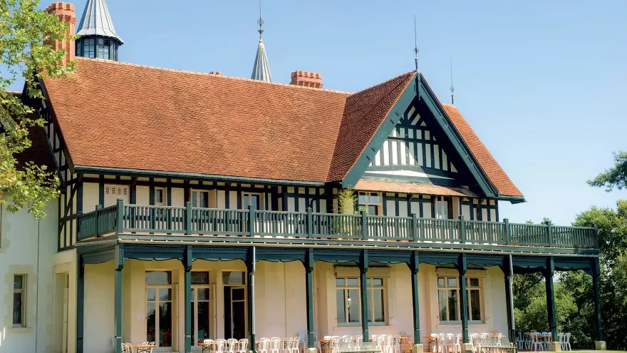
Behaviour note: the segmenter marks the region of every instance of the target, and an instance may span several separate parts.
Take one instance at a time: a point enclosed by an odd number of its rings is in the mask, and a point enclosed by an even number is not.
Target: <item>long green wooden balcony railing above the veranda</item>
[[[527,225],[476,220],[224,210],[128,205],[78,215],[78,240],[108,233],[239,235],[334,240],[388,240],[526,247],[598,248],[592,227]]]

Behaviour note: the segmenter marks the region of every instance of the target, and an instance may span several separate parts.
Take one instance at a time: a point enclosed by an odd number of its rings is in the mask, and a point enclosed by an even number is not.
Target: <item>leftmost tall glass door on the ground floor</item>
[[[172,272],[146,271],[146,340],[172,347]]]

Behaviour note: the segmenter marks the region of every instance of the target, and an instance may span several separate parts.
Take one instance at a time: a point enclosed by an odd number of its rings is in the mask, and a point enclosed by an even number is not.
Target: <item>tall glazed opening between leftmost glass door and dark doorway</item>
[[[192,272],[192,344],[209,339],[209,272]]]

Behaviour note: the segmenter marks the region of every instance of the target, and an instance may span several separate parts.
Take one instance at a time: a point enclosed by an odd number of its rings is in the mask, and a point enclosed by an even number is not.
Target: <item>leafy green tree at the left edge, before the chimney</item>
[[[0,203],[10,212],[26,207],[42,218],[43,208],[58,195],[56,175],[45,166],[16,159],[31,146],[29,129],[41,128],[43,121],[8,88],[22,78],[26,95],[40,100],[43,94],[38,83],[42,78],[73,71],[73,62],[63,64],[65,51],[46,44],[63,40],[68,26],[41,11],[38,0],[0,0]]]

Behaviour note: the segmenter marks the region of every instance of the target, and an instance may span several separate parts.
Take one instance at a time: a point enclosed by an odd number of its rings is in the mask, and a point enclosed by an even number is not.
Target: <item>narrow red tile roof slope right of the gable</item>
[[[457,131],[462,135],[464,142],[468,145],[472,154],[475,155],[475,159],[479,162],[484,173],[486,173],[492,184],[499,190],[499,194],[522,197],[520,190],[518,190],[516,185],[512,183],[512,180],[505,174],[505,171],[501,168],[499,163],[497,163],[497,160],[492,157],[492,153],[489,153],[489,150],[487,150],[485,145],[481,142],[475,131],[472,130],[470,124],[468,124],[466,119],[462,116],[462,113],[460,113],[455,106],[451,106],[450,104],[442,104],[442,106],[455,125],[455,128],[457,128]]]

